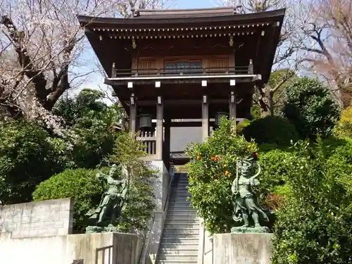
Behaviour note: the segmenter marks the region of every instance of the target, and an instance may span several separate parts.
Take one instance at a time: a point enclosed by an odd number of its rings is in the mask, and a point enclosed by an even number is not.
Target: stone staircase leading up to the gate
[[[187,174],[175,174],[168,214],[161,237],[156,264],[196,264],[199,245],[199,220],[187,196]]]

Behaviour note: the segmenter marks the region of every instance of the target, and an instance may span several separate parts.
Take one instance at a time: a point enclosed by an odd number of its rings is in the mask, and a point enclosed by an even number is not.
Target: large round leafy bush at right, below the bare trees
[[[286,88],[284,116],[296,127],[301,137],[330,134],[339,119],[339,106],[329,89],[318,80],[303,77]]]

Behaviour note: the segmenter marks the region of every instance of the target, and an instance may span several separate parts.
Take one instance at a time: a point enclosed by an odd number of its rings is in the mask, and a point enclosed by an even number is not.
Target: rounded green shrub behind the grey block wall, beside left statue
[[[73,228],[84,230],[84,215],[89,209],[96,207],[101,199],[103,189],[96,180],[97,170],[76,169],[65,170],[51,176],[40,183],[33,192],[34,201],[73,198],[75,216]]]

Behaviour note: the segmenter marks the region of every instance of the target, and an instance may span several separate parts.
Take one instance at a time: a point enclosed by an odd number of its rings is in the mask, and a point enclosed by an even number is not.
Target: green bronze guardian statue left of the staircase
[[[116,176],[116,170],[118,166],[113,164],[108,175],[101,171],[96,174],[96,179],[106,190],[99,206],[86,214],[93,225],[87,227],[87,232],[117,231],[115,225],[122,222],[121,212],[127,198],[128,184],[125,179]]]

